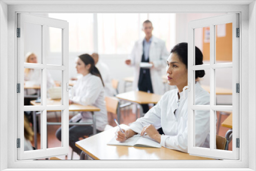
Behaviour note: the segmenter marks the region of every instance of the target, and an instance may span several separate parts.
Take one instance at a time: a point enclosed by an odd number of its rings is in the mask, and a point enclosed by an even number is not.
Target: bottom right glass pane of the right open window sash
[[[218,122],[216,125],[217,132],[215,149],[232,151],[232,112],[216,111],[216,113],[218,116]]]

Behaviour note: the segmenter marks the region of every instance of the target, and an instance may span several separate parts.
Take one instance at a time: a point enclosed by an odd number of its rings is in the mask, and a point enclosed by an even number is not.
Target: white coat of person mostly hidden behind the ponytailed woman
[[[99,70],[101,78],[104,82],[105,96],[114,96],[116,93],[112,87],[109,67],[101,60],[98,60],[96,67]]]

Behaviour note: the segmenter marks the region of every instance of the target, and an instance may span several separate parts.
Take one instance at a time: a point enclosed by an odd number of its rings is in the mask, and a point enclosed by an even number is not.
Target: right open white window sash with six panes
[[[216,27],[220,24],[232,23],[232,62],[216,63]],[[210,64],[196,65],[195,62],[195,29],[210,27]],[[236,138],[239,138],[239,94],[236,93],[236,83],[239,82],[239,39],[236,37],[236,28],[239,28],[239,14],[230,13],[219,16],[191,20],[188,24],[188,153],[190,155],[212,157],[216,159],[239,159],[239,148],[236,147]],[[216,104],[216,69],[232,69],[232,105]],[[195,71],[210,70],[210,105],[195,104]],[[241,92],[242,93],[242,92]],[[195,139],[195,111],[209,111],[210,116],[210,148],[194,146]],[[232,112],[232,151],[216,148],[216,111]]]

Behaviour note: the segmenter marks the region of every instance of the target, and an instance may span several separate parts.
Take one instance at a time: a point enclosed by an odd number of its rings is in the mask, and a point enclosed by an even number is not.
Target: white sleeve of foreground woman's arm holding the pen
[[[156,129],[161,127],[161,100],[149,110],[144,117],[138,118],[135,122],[130,125],[130,129],[140,134],[142,128],[146,125],[153,124]]]

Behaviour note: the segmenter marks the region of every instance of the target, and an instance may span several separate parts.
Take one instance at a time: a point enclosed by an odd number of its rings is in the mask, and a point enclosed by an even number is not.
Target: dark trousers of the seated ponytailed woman
[[[101,131],[97,130],[97,133]],[[79,141],[80,137],[90,136],[93,134],[93,127],[91,125],[70,125],[69,126],[69,146],[76,152],[78,155],[81,153],[81,149],[76,147],[76,142]],[[56,137],[61,141],[61,126],[56,131]]]

